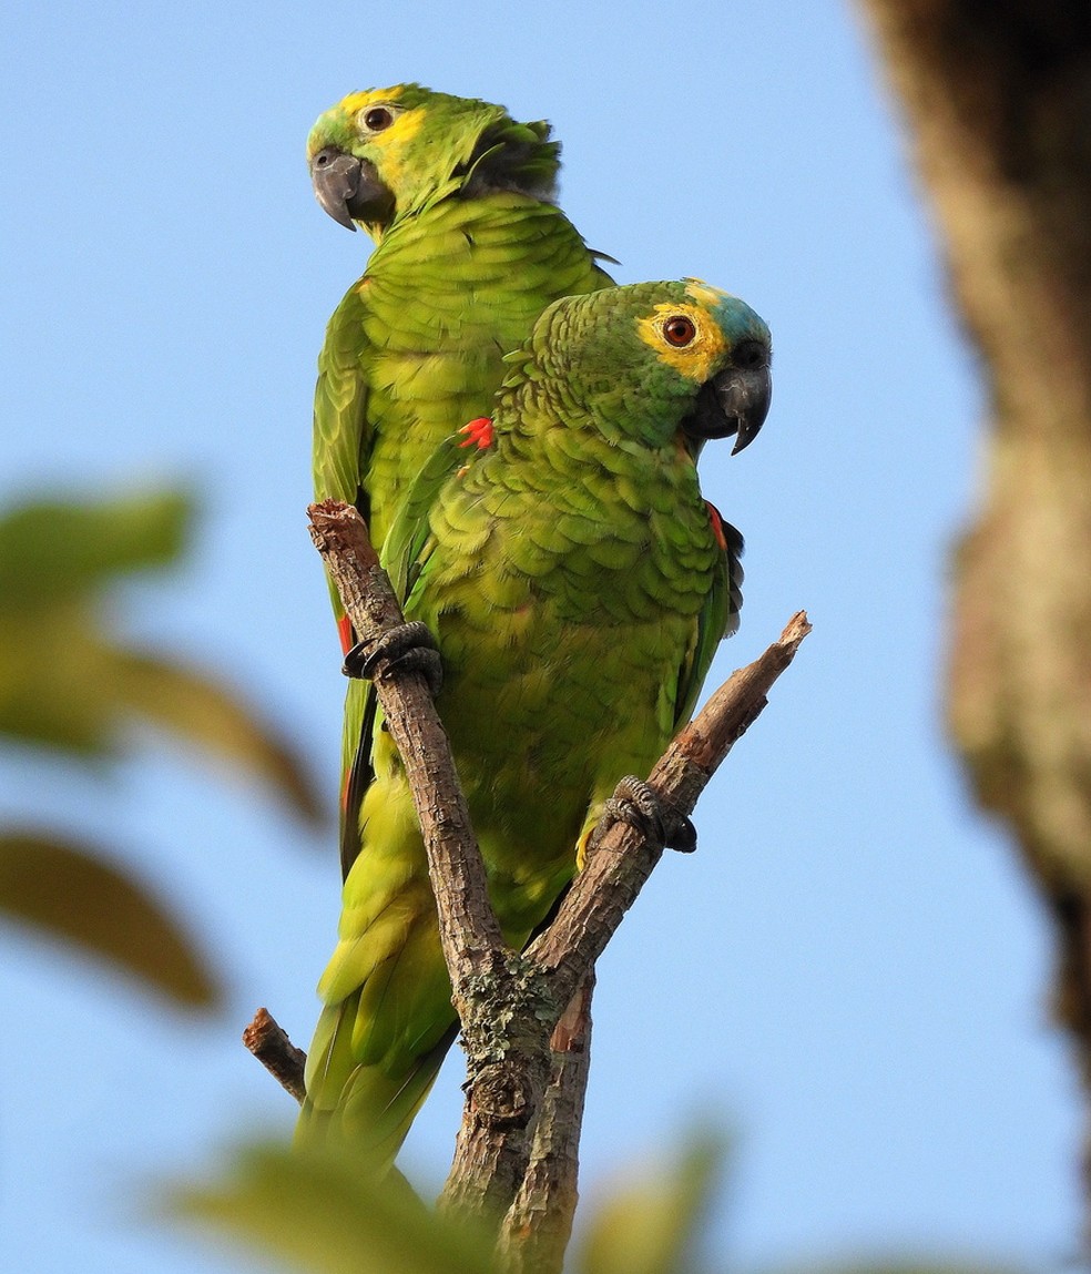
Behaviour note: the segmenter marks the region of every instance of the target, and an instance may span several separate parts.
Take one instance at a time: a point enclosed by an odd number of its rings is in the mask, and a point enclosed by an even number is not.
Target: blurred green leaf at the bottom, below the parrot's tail
[[[491,1274],[491,1243],[436,1215],[398,1176],[370,1181],[336,1147],[259,1147],[172,1210],[308,1274]]]

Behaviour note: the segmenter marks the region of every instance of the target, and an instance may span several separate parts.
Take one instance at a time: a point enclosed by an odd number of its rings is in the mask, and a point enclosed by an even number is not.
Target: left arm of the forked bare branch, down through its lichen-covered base
[[[312,505],[308,512],[311,538],[358,638],[375,642],[401,626],[401,609],[359,513],[338,501]],[[557,1005],[540,970],[503,943],[423,674],[389,673],[380,662],[375,689],[421,822],[468,1057],[466,1113],[441,1206],[498,1222],[521,1180],[528,1129],[549,1080],[549,1032],[571,996]]]

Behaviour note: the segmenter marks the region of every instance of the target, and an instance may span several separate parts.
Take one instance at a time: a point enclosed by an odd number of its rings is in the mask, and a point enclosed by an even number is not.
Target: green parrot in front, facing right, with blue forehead
[[[384,559],[436,637],[436,706],[519,949],[734,631],[742,538],[702,499],[696,455],[757,433],[770,335],[704,283],[642,283],[549,306],[506,367],[492,420],[422,468]],[[458,1023],[404,771],[389,734],[371,738],[298,1136],[344,1138],[386,1167]]]

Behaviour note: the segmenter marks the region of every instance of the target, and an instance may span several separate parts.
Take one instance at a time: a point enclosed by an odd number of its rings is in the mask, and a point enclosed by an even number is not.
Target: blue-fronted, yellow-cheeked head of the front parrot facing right
[[[695,457],[709,438],[734,437],[733,454],[742,451],[769,414],[769,327],[744,301],[700,279],[566,297],[538,320],[531,347],[561,352],[568,366],[554,354],[554,371],[595,414],[628,422],[651,445],[681,436]]]

